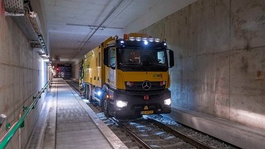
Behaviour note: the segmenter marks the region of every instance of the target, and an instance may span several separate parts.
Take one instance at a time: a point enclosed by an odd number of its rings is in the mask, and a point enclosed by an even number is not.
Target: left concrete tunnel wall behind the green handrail
[[[32,8],[41,16],[41,9],[37,7],[39,1],[32,1]],[[32,49],[28,38],[12,18],[5,17],[3,0],[0,0],[0,114],[7,116],[0,128],[0,139],[6,133],[6,123],[13,125],[19,120],[23,106],[30,106],[32,97],[47,82],[47,74],[46,63]],[[26,148],[45,96],[46,92],[26,117],[25,127],[21,128],[21,148]],[[19,148],[18,131],[7,148]]]

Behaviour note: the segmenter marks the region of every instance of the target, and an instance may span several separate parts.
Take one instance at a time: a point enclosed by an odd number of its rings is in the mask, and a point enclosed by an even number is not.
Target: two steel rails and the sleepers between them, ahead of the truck
[[[119,127],[126,130],[144,148],[210,148],[148,117],[121,122],[113,118],[112,121],[118,123]]]

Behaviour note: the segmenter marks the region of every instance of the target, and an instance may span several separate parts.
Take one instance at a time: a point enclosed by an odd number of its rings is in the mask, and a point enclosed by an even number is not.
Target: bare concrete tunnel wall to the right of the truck
[[[265,1],[199,0],[140,32],[175,52],[173,108],[265,130]]]

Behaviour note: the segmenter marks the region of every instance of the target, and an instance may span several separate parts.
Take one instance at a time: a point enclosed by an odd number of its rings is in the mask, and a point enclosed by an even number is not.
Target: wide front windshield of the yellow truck
[[[132,70],[167,70],[166,49],[124,48],[118,50],[118,67]],[[130,70],[130,69],[129,69]]]

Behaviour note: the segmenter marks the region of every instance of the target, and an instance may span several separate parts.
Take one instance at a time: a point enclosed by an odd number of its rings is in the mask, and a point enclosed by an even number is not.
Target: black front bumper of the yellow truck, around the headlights
[[[148,95],[148,99],[144,96]],[[170,99],[170,90],[158,90],[149,92],[130,92],[117,90],[115,92],[114,117],[139,117],[145,114],[165,114],[171,112],[171,106],[165,105],[164,100]],[[127,106],[119,108],[116,105],[118,100],[127,101]]]

